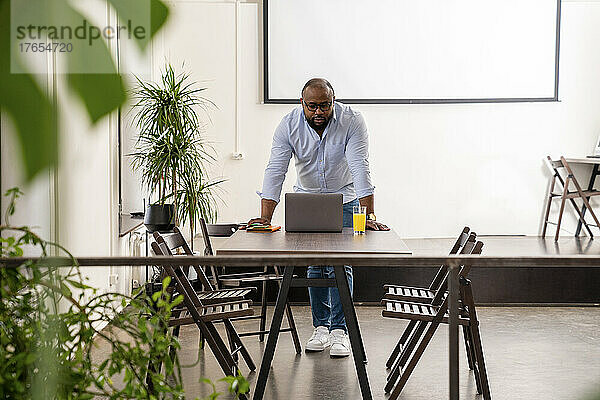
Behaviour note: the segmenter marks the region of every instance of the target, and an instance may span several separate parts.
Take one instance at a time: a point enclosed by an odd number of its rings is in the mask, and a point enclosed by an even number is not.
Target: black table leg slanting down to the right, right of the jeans
[[[373,396],[371,395],[371,387],[369,386],[369,377],[367,376],[367,369],[365,368],[364,363],[366,360],[364,347],[362,345],[358,320],[354,312],[354,305],[352,304],[352,296],[350,295],[346,271],[343,265],[335,266],[334,268],[335,280],[340,293],[340,300],[342,301],[344,317],[346,318],[346,327],[348,328],[348,336],[350,337],[352,356],[354,357],[354,366],[356,367],[356,374],[358,375],[358,384],[360,385],[362,398],[363,400],[372,400]]]

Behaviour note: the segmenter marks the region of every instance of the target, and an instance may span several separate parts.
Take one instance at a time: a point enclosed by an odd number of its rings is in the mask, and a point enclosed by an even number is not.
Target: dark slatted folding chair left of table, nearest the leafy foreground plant
[[[157,255],[172,255],[164,238],[156,232],[156,241],[152,243],[152,250]],[[163,266],[164,271],[174,282],[174,290],[183,295],[183,307],[175,308],[173,316],[169,320],[169,327],[179,327],[181,325],[196,324],[200,329],[203,340],[211,348],[217,358],[217,362],[226,375],[237,375],[238,367],[236,362],[237,353],[241,353],[246,365],[251,371],[256,369],[250,353],[242,343],[236,332],[232,318],[245,317],[254,314],[251,300],[240,300],[239,297],[230,296],[229,291],[207,291],[200,292],[200,295],[209,300],[210,304],[203,304],[200,296],[194,290],[187,275],[182,267]],[[215,297],[224,295],[220,302],[215,302]],[[208,298],[207,298],[208,297]],[[225,325],[231,351],[221,339],[214,323],[222,321]]]

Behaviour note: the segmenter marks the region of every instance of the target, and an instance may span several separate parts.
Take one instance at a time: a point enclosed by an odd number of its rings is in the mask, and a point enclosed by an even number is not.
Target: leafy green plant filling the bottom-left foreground
[[[70,254],[27,227],[9,225],[21,194],[7,192],[0,257],[21,256],[25,246],[39,249],[41,256],[18,268],[0,265],[0,398],[185,398],[182,367],[171,352],[179,342],[167,329],[183,298],[170,297],[170,279],[151,296],[99,294],[85,284],[74,258],[70,268],[48,266],[43,261],[51,248]],[[98,330],[103,322],[110,324]],[[92,354],[100,341],[110,349],[103,357]],[[236,397],[249,389],[241,376],[224,380]],[[219,394],[213,385],[209,398]]]

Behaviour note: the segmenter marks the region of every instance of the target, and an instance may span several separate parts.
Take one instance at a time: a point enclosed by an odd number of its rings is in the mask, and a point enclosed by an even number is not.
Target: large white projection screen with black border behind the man
[[[560,0],[264,0],[266,103],[558,100]]]

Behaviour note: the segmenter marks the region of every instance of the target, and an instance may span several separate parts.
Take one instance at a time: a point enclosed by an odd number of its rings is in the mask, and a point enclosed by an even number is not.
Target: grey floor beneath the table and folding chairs
[[[584,399],[600,391],[600,308],[597,307],[482,307],[481,334],[493,399]],[[403,322],[384,319],[377,307],[358,307],[369,364],[367,372],[374,399],[385,399],[385,360]],[[294,307],[303,342],[312,332],[310,309]],[[253,322],[237,323],[240,331]],[[182,330],[181,360],[197,360],[198,333],[194,327]],[[263,344],[257,338],[245,343],[259,363]],[[303,343],[304,344],[304,343]],[[434,336],[401,399],[425,400],[448,397],[447,329]],[[480,399],[469,373],[461,345],[460,398]],[[248,373],[242,365],[244,373]],[[200,353],[200,362],[185,369],[186,392],[191,397],[207,394],[198,384],[201,377],[221,377],[209,350]],[[249,375],[254,386],[256,374]],[[227,398],[227,397],[224,397]],[[331,359],[324,353],[296,355],[290,335],[281,335],[265,399],[359,399],[360,391],[351,358]]]

